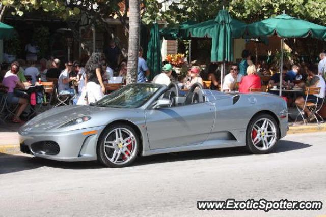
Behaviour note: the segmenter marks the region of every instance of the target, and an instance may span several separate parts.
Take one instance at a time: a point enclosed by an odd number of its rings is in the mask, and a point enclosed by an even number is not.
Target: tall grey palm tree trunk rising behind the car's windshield
[[[140,0],[129,0],[129,48],[127,84],[137,83],[139,34],[140,34]]]

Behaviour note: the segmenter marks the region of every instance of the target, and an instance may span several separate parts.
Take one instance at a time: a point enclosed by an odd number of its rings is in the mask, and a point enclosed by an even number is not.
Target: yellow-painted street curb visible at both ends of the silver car
[[[287,134],[298,133],[313,133],[326,131],[326,123],[321,125],[301,125],[301,126],[289,126]],[[0,145],[0,154],[17,154],[20,153],[19,144]]]

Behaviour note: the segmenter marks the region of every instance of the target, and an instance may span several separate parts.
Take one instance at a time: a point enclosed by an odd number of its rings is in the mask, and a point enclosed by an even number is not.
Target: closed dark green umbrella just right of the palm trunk
[[[160,49],[160,37],[158,31],[158,24],[154,23],[154,26],[150,32],[150,39],[148,43],[147,50],[147,65],[151,74],[149,75],[149,80],[153,80],[153,78],[161,72],[162,69],[162,56]]]

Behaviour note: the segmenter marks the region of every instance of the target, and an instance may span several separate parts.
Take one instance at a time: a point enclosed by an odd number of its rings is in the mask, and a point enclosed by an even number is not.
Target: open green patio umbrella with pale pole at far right
[[[271,36],[277,34],[281,40],[281,68],[283,68],[284,38],[305,38],[311,36],[316,39],[326,39],[326,27],[305,20],[291,17],[285,13],[270,17],[265,20],[247,25],[247,35],[250,37]],[[280,73],[282,81],[282,73]],[[280,84],[280,96],[282,95],[282,82]]]

